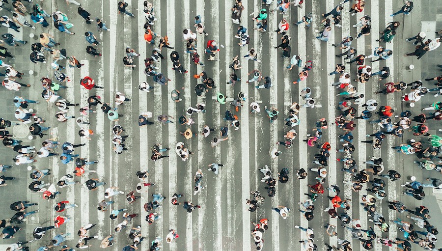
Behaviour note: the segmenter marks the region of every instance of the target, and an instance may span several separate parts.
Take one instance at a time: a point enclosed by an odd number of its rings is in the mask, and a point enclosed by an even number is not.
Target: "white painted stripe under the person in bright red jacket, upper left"
[[[81,63],[84,64],[81,68],[81,76],[84,78],[85,76],[89,76],[89,61],[88,60],[81,60]],[[81,107],[87,106],[87,98],[89,97],[89,90],[86,88],[81,88],[81,100],[80,105]],[[85,125],[84,128],[87,130],[89,129],[88,125]],[[95,135],[91,135],[90,137],[94,137]],[[75,143],[75,142],[73,142]],[[82,158],[86,158],[89,160],[89,140],[82,138],[82,144],[86,144],[85,146],[82,146],[81,148],[81,154],[80,156]],[[78,154],[78,153],[76,153]],[[80,208],[82,209],[82,226],[89,223],[89,190],[86,187],[85,182],[89,179],[89,174],[85,173],[83,174],[81,178],[82,183],[82,204]],[[96,192],[96,191],[94,191]],[[90,192],[92,193],[92,192]]]

